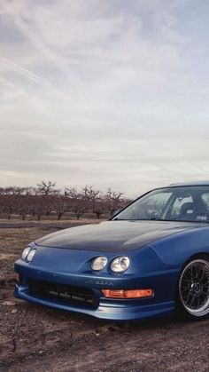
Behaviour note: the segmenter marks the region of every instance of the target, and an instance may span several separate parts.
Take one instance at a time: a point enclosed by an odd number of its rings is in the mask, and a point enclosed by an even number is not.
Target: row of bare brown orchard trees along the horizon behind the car
[[[105,212],[120,208],[125,203],[122,193],[116,193],[111,188],[106,194],[87,185],[81,192],[74,187],[66,187],[61,193],[56,183],[50,180],[42,181],[36,187],[0,187],[0,214],[6,214],[8,219],[12,214],[19,214],[22,219],[32,214],[40,220],[43,215],[50,216],[51,212],[56,212],[60,219],[68,211],[73,212],[77,219],[87,212],[100,218]]]

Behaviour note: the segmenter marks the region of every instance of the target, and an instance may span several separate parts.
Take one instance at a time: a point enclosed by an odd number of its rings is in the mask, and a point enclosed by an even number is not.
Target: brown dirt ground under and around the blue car
[[[14,298],[13,261],[45,233],[0,229],[1,371],[209,371],[209,320],[106,323]]]

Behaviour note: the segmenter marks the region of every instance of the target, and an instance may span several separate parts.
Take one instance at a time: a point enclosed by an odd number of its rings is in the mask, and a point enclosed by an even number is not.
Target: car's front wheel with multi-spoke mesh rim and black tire
[[[193,257],[182,269],[178,281],[176,310],[193,321],[209,315],[209,257]]]

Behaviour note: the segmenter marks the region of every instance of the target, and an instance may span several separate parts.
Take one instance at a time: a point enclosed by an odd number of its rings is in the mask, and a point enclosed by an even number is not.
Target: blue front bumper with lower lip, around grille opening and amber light
[[[178,270],[166,270],[136,277],[135,275],[92,275],[75,273],[51,273],[28,265],[22,260],[15,264],[20,275],[14,296],[39,305],[48,305],[76,313],[85,313],[103,320],[134,321],[174,313],[174,291]],[[31,293],[28,281],[46,281],[61,285],[78,286],[92,290],[97,297],[95,305],[73,305],[60,299],[47,298]],[[165,285],[166,283],[166,285]],[[146,299],[112,299],[103,296],[102,289],[154,289],[154,297]]]

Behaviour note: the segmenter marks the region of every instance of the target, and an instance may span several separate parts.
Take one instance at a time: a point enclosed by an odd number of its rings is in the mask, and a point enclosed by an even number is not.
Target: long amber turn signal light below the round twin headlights
[[[107,298],[146,298],[154,295],[153,289],[102,289]]]

